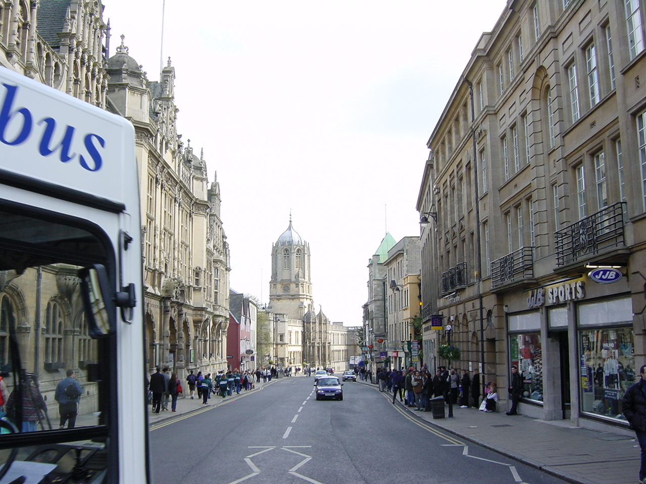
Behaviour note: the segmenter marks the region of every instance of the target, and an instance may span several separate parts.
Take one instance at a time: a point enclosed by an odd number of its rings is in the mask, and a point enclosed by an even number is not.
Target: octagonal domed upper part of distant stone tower
[[[312,283],[309,273],[309,244],[291,225],[271,248],[269,309],[302,320],[313,312]]]

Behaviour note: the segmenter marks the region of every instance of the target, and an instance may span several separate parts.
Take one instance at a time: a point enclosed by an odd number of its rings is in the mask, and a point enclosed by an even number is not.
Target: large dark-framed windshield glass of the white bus
[[[90,228],[0,208],[0,477],[37,461],[62,482],[107,458],[107,343],[90,336],[78,272],[110,257]]]

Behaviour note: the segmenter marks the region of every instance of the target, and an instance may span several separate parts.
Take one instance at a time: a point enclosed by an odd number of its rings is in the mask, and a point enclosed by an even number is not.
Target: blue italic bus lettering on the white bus
[[[19,108],[12,111],[12,105],[18,91],[18,86],[12,86],[10,84],[3,84],[3,86],[6,88],[6,95],[2,108],[0,109],[0,141],[9,146],[20,145],[21,143],[25,143],[32,134],[32,126],[34,125],[32,121],[33,117],[28,108]],[[17,134],[14,139],[9,140],[6,139],[5,131],[7,125],[15,116],[22,117],[23,126],[20,129],[19,134]],[[16,121],[14,121],[14,123],[15,122]],[[72,152],[72,140],[74,139],[74,131],[76,130],[74,126],[68,125],[67,128],[65,128],[63,139],[61,139],[58,145],[52,146],[52,136],[54,136],[54,130],[56,129],[56,120],[53,117],[45,117],[40,121],[37,121],[36,124],[45,126],[38,145],[38,152],[42,156],[49,156],[55,151],[60,150],[60,160],[63,163],[67,163],[76,157],[76,153]],[[101,148],[105,148],[105,139],[98,134],[89,133],[83,137],[83,145],[85,145],[89,159],[82,154],[79,154],[79,164],[90,172],[98,171],[103,164],[97,143]]]

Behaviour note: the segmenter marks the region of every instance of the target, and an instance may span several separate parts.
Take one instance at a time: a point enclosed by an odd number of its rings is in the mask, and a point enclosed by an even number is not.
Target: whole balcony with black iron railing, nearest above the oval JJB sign
[[[625,202],[604,207],[557,232],[557,271],[587,263],[623,265],[629,249],[625,245],[623,213]]]

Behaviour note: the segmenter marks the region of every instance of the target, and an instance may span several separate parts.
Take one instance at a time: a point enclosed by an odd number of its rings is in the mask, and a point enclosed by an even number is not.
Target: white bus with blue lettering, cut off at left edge
[[[0,484],[150,481],[139,197],[128,121],[0,67]]]

